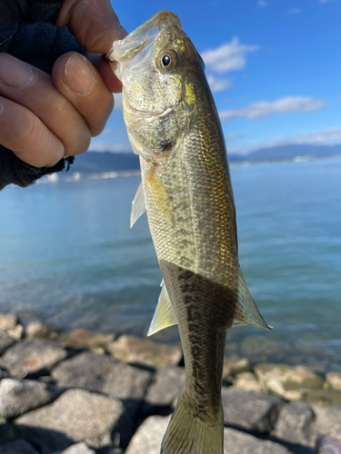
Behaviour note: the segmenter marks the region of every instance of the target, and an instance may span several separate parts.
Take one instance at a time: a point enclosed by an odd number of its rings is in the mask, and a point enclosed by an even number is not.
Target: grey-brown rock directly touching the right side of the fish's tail
[[[224,388],[224,422],[250,431],[267,433],[274,429],[284,400],[270,394]]]

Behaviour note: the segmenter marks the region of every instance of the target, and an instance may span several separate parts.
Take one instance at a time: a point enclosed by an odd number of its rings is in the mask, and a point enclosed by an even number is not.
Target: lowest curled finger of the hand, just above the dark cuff
[[[0,96],[0,143],[34,167],[52,167],[65,155],[63,142],[22,105]]]

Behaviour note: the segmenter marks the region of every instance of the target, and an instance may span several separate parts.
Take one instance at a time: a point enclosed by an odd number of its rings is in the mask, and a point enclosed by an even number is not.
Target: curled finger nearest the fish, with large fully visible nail
[[[101,133],[113,111],[114,97],[85,56],[71,52],[60,56],[52,69],[52,80],[83,116],[91,135]]]

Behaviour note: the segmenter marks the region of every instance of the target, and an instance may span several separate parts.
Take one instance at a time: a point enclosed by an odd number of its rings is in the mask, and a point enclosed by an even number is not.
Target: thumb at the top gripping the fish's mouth
[[[128,35],[110,0],[64,0],[55,25],[66,25],[78,43],[91,53],[107,54],[113,41]]]

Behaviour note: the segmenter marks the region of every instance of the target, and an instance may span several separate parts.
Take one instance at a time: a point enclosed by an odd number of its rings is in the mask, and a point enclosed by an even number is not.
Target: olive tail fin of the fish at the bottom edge
[[[186,389],[177,400],[176,410],[166,429],[161,454],[223,454],[223,410],[215,417],[198,414],[190,405]]]

